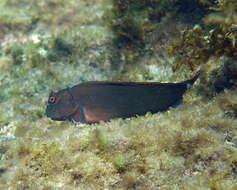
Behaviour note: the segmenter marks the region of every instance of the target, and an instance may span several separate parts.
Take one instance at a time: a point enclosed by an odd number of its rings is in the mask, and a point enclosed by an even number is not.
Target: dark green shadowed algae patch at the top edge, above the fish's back
[[[110,27],[116,34],[115,44],[123,46],[145,46],[149,34],[156,30],[158,23],[165,16],[179,16],[185,18],[193,14],[190,22],[197,23],[201,17],[208,13],[208,6],[213,1],[188,1],[188,0],[119,0],[113,1],[113,19],[110,20]],[[198,12],[198,14],[193,13]],[[181,14],[186,14],[185,16]],[[193,18],[195,17],[196,18]]]

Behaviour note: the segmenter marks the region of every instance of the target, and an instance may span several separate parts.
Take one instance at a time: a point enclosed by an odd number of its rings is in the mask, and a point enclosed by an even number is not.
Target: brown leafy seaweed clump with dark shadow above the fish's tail
[[[237,3],[216,1],[210,10],[212,13],[203,18],[203,26],[184,29],[180,38],[170,41],[168,53],[175,57],[173,70],[184,64],[191,70],[201,66],[201,83],[206,85],[201,85],[200,90],[213,97],[236,85]]]

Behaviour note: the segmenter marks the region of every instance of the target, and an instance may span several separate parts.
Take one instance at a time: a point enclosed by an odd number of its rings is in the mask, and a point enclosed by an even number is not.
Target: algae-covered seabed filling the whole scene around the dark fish
[[[0,1],[0,189],[237,189],[235,0]],[[183,104],[51,121],[50,90],[180,82]]]

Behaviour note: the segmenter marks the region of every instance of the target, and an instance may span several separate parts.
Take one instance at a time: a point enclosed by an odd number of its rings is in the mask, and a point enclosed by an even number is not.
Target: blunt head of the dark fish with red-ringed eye
[[[46,107],[46,116],[52,120],[63,121],[70,119],[76,112],[77,105],[68,89],[51,92]]]

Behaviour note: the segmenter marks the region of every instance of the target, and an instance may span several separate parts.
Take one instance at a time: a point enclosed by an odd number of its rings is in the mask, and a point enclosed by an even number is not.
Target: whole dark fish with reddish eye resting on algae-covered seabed
[[[182,102],[188,85],[200,72],[184,82],[85,82],[51,92],[46,115],[53,120],[82,123],[108,121],[165,111]]]

